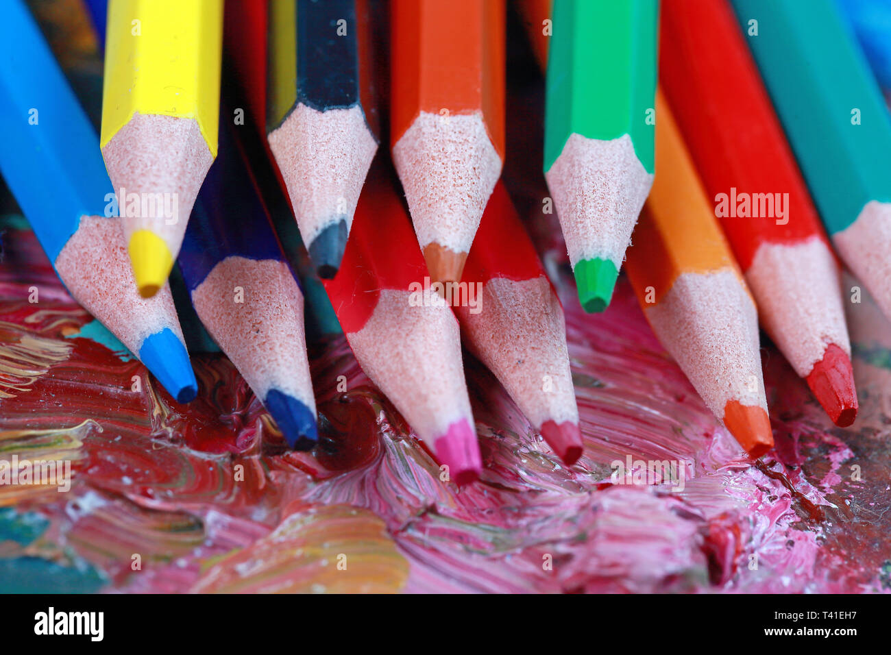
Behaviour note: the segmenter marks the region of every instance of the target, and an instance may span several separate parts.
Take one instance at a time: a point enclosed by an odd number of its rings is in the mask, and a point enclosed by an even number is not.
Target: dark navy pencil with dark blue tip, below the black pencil
[[[303,332],[303,294],[282,252],[241,140],[223,111],[208,171],[177,261],[192,305],[282,430],[289,446],[318,440]]]

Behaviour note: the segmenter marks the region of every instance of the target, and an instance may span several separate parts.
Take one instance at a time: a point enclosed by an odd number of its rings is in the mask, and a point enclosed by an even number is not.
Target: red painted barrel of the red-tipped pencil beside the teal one
[[[666,0],[659,79],[711,199],[789,193],[787,225],[774,217],[719,218],[743,272],[764,242],[819,236],[813,201],[729,3]]]

